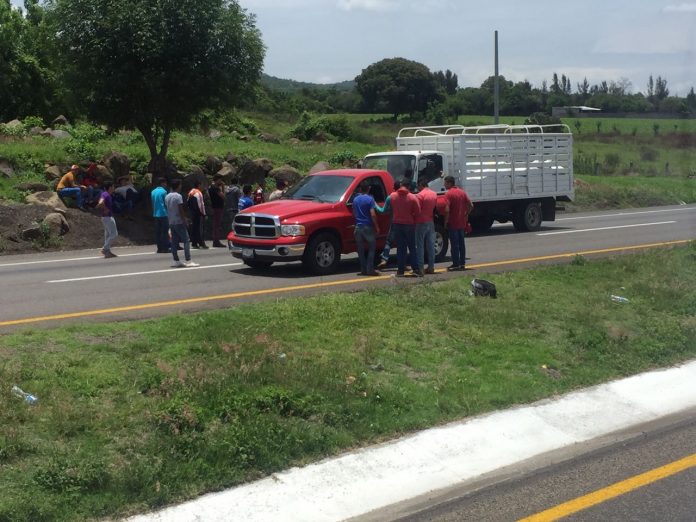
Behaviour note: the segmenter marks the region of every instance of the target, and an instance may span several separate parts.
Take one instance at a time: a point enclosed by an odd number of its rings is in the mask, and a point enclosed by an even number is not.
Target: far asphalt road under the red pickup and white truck
[[[480,270],[568,261],[575,253],[611,255],[631,247],[693,239],[696,205],[559,215],[539,232],[517,233],[511,224],[496,225],[486,235],[467,239],[467,264],[474,271],[466,277]],[[382,278],[357,277],[354,255],[344,256],[340,273],[319,277],[305,273],[299,263],[252,270],[226,249],[194,250],[199,268],[174,269],[170,255],[153,250],[115,249],[119,257],[109,260],[99,256],[98,248],[0,257],[0,329],[144,318],[397,281],[389,277],[394,270]],[[461,273],[429,277],[452,276]]]

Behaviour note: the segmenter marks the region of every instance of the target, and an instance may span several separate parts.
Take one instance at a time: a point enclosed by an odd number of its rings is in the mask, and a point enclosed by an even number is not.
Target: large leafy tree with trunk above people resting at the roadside
[[[232,105],[260,78],[265,48],[236,0],[55,0],[71,87],[96,120],[135,127],[164,172],[172,130]]]

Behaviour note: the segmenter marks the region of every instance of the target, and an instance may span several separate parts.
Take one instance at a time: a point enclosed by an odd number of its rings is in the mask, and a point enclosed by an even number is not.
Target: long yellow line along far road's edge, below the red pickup
[[[616,248],[603,248],[600,250],[585,250],[581,252],[572,252],[572,253],[567,253],[567,254],[552,254],[548,256],[537,256],[537,257],[527,257],[527,258],[521,258],[521,259],[508,259],[505,261],[493,261],[490,263],[479,263],[475,265],[469,265],[469,268],[490,268],[494,266],[506,266],[506,265],[515,265],[515,264],[521,264],[521,263],[530,263],[534,261],[549,261],[553,259],[567,259],[567,258],[572,258],[577,255],[592,255],[592,254],[607,254],[611,252],[621,252],[625,250],[640,250],[640,249],[646,249],[646,248],[656,248],[656,247],[665,247],[665,246],[673,246],[673,245],[680,245],[684,243],[689,243],[691,240],[680,240],[680,241],[666,241],[663,243],[649,243],[649,244],[644,244],[644,245],[632,245],[632,246],[625,246],[625,247],[616,247]],[[440,269],[438,272],[444,272],[444,270]],[[372,277],[372,278],[356,278],[356,279],[342,279],[340,281],[330,281],[330,282],[324,282],[324,283],[311,283],[311,284],[306,284],[306,285],[294,285],[294,286],[285,286],[285,287],[280,287],[280,288],[268,288],[266,290],[253,290],[253,291],[248,291],[248,292],[236,292],[232,294],[222,294],[222,295],[209,295],[209,296],[203,296],[203,297],[191,297],[188,299],[176,299],[173,301],[159,301],[155,303],[145,303],[145,304],[139,304],[139,305],[129,305],[129,306],[119,306],[116,308],[103,308],[99,310],[88,310],[85,312],[71,312],[71,313],[66,313],[66,314],[56,314],[56,315],[45,315],[45,316],[39,316],[39,317],[27,317],[25,319],[13,319],[11,321],[0,321],[0,327],[1,326],[16,326],[20,324],[31,324],[31,323],[40,323],[40,322],[46,322],[46,321],[58,321],[60,319],[75,319],[78,317],[92,317],[95,315],[106,315],[106,314],[114,314],[118,312],[133,312],[137,310],[148,310],[152,308],[165,308],[169,306],[178,306],[178,305],[185,305],[185,304],[193,304],[193,303],[204,303],[208,301],[221,301],[221,300],[226,300],[226,299],[240,299],[243,297],[254,297],[254,296],[261,296],[261,295],[269,295],[269,294],[277,294],[277,293],[287,293],[287,292],[296,292],[298,290],[311,290],[311,289],[318,289],[318,288],[328,288],[332,286],[343,286],[343,285],[350,285],[350,284],[355,284],[355,283],[365,283],[369,281],[379,281],[383,279],[388,279],[391,277],[391,275],[384,275],[384,276],[379,276],[379,277]]]

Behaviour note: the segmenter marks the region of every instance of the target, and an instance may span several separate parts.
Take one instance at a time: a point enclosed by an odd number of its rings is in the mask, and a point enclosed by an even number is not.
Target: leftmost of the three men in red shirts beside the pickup
[[[396,239],[396,259],[398,268],[396,275],[404,276],[406,270],[406,251],[410,257],[413,271],[409,275],[420,276],[421,271],[416,258],[416,219],[420,214],[418,198],[411,194],[411,181],[404,178],[396,192],[389,195],[392,208],[392,228]]]

